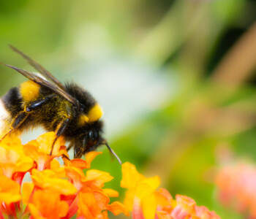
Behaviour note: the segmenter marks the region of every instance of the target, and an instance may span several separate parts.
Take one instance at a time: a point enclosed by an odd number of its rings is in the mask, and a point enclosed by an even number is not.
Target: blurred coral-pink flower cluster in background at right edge
[[[241,163],[222,167],[216,185],[222,204],[256,218],[256,166]]]

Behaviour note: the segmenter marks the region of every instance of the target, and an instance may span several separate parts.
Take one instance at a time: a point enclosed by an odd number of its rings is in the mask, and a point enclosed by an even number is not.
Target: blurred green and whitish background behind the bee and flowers
[[[105,136],[121,160],[222,218],[214,176],[256,161],[255,0],[1,1],[0,60],[34,71],[18,47],[61,82],[88,89],[105,110]],[[0,94],[25,78],[0,66]],[[42,130],[23,135],[23,142]],[[93,167],[115,179],[108,150]],[[120,216],[122,218],[122,216]]]

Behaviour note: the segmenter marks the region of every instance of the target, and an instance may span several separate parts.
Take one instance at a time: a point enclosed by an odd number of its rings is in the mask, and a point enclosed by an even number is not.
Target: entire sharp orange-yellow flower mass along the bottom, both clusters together
[[[108,212],[128,216],[129,211],[134,219],[219,219],[187,196],[177,195],[175,200],[164,188],[157,190],[159,177],[146,178],[129,163],[122,165],[121,187],[128,189],[124,204],[110,204],[118,192],[104,185],[113,177],[89,169],[100,152],[87,153],[85,160],[69,160],[59,138],[49,155],[55,138],[49,132],[26,145],[18,138],[0,143],[0,219],[108,219]],[[25,174],[31,182],[23,182]]]

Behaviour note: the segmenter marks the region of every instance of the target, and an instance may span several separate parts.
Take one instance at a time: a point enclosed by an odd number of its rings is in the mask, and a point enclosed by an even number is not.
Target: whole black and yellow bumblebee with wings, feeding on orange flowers
[[[42,126],[46,131],[55,131],[56,139],[64,137],[69,142],[67,150],[74,147],[74,158],[96,150],[99,145],[106,145],[121,164],[102,137],[102,108],[91,94],[74,82],[61,84],[28,55],[10,47],[39,73],[4,64],[29,80],[11,88],[0,99],[0,141],[7,134],[20,134],[28,128]]]

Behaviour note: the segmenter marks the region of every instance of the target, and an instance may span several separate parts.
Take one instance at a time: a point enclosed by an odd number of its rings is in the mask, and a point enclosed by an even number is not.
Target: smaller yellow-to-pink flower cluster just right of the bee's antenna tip
[[[157,190],[159,177],[146,178],[132,164],[123,164],[122,172],[121,187],[128,189],[124,204],[134,219],[220,219],[187,196],[176,195],[174,200],[165,188]]]

